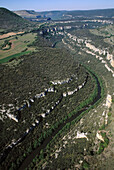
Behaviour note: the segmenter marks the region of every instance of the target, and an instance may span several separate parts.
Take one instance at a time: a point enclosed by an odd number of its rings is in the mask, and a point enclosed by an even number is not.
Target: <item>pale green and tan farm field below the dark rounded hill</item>
[[[21,54],[23,55],[25,53],[29,53],[30,51],[35,51],[35,48],[28,47],[28,45],[35,40],[35,37],[35,33],[27,33],[24,35],[7,38],[12,45],[9,50],[0,50],[0,63],[7,62],[9,59],[20,56]],[[0,40],[0,46],[4,44],[5,40]]]

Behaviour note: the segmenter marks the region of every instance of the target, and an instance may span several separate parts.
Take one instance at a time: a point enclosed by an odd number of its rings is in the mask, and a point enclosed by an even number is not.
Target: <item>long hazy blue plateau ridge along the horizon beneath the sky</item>
[[[16,14],[27,19],[75,19],[77,17],[108,17],[114,16],[114,9],[98,9],[98,10],[74,10],[74,11],[44,11],[36,12],[34,10],[20,10],[14,11]]]

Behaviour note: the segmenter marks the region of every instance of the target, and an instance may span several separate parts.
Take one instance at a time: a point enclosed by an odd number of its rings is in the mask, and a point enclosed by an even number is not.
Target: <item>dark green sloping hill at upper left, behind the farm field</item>
[[[19,31],[31,26],[32,23],[12,11],[9,11],[6,8],[0,8],[0,29]]]

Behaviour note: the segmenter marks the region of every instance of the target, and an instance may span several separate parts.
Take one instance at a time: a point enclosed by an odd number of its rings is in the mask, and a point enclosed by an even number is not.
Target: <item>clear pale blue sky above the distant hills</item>
[[[43,11],[82,11],[82,10],[103,10],[103,9],[113,9],[113,0],[96,0],[91,2],[91,0],[58,0],[54,2],[49,0],[2,0],[0,6],[7,8],[11,11],[17,10],[34,10],[38,12]]]

